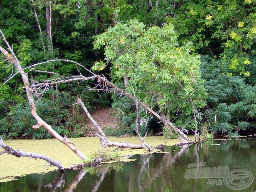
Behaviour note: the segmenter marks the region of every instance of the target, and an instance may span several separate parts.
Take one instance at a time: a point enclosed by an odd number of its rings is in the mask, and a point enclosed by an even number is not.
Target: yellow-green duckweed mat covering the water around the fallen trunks
[[[193,136],[190,136],[191,139]],[[108,137],[111,141],[124,141],[133,144],[141,144],[138,137]],[[76,147],[82,151],[85,155],[91,154],[95,150],[100,150],[100,140],[96,137],[81,137],[70,138],[75,143]],[[176,145],[180,140],[166,140],[164,136],[146,137],[145,142],[150,146],[156,146],[159,143],[164,145]],[[82,163],[82,160],[76,156],[68,147],[62,144],[56,139],[49,140],[4,140],[6,145],[14,149],[22,149],[22,151],[31,153],[40,153],[51,157],[54,160],[59,160],[64,167],[70,167],[74,164]],[[112,150],[112,148],[105,148]],[[121,156],[135,155],[146,153],[146,149],[123,149],[120,151]],[[48,165],[48,163],[41,159],[29,159],[28,157],[15,157],[12,155],[3,154],[0,155],[0,182],[14,180],[16,177],[33,174],[33,173],[45,173],[56,169]]]

